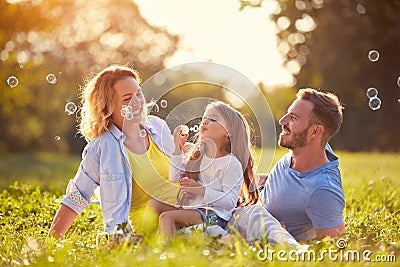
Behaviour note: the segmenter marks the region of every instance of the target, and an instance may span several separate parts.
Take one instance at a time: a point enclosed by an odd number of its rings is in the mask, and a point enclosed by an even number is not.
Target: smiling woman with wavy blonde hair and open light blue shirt
[[[130,165],[126,147],[132,153],[142,154],[152,144],[160,151],[158,156],[170,155],[174,149],[167,124],[158,117],[146,116],[139,83],[135,70],[110,66],[83,88],[79,132],[89,143],[74,179],[67,186],[49,235],[62,238],[77,215],[90,205],[94,190],[100,188],[105,232],[122,230],[125,237],[132,236],[131,202],[135,207],[144,206],[150,197],[145,198],[147,195],[132,181],[137,169]],[[131,107],[130,118],[128,131],[122,132],[126,120],[121,110],[126,106]]]

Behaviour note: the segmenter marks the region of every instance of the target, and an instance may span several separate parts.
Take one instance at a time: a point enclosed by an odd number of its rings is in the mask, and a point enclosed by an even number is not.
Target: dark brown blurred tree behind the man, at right
[[[333,138],[345,150],[398,151],[400,131],[400,1],[276,0],[271,18],[278,49],[296,87],[334,92],[345,104],[344,124]],[[368,53],[377,50],[376,62]],[[366,91],[378,89],[380,109]]]

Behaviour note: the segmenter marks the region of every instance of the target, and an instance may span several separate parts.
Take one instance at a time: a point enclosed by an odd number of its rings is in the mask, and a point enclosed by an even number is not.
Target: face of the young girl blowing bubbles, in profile
[[[228,137],[227,123],[216,108],[207,109],[201,121],[199,135],[223,144]]]

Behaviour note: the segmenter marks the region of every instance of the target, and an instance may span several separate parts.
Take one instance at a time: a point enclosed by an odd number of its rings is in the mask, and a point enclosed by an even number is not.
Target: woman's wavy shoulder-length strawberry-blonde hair
[[[112,65],[100,71],[81,89],[79,132],[86,141],[91,141],[108,130],[114,109],[114,85],[125,77],[133,77],[140,83],[136,70]]]

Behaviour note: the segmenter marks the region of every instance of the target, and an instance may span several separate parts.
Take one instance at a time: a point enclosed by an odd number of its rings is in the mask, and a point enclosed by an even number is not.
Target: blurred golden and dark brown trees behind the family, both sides
[[[295,80],[275,88],[258,84],[276,121],[298,88],[321,88],[346,107],[335,149],[399,151],[400,0],[268,1],[276,2],[271,19],[278,49]],[[240,2],[241,9],[262,4]],[[0,0],[0,152],[81,151],[79,112],[68,116],[64,106],[73,101],[79,107],[85,78],[123,64],[146,80],[164,69],[178,44],[178,36],[152,26],[131,0]],[[378,61],[368,59],[370,50],[380,53]],[[47,82],[48,74],[57,82]],[[18,79],[14,88],[7,85],[10,76]],[[375,111],[368,106],[369,87],[382,101]],[[191,94],[199,92],[176,95],[170,107]]]

